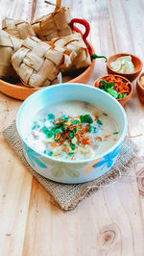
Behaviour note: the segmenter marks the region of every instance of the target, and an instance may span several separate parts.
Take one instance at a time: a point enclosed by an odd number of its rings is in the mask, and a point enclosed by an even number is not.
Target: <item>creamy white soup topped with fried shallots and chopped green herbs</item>
[[[111,115],[79,100],[62,101],[39,111],[27,136],[39,153],[80,161],[105,152],[118,138]]]

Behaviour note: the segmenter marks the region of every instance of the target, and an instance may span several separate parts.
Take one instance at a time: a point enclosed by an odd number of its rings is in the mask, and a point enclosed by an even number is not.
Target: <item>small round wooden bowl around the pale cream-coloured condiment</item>
[[[132,64],[134,65],[134,72],[133,73],[116,72],[110,66],[111,63],[115,62],[118,58],[123,57],[123,56],[131,56],[132,57]],[[108,74],[115,74],[115,75],[120,75],[120,76],[126,77],[131,82],[140,74],[141,69],[142,69],[142,62],[140,61],[139,58],[137,58],[136,56],[134,56],[132,54],[120,53],[120,54],[112,55],[108,58],[108,62],[107,62]]]

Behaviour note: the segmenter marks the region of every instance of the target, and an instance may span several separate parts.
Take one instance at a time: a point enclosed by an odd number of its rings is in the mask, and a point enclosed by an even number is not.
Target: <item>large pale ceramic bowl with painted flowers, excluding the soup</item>
[[[118,125],[119,140],[103,154],[84,161],[60,161],[36,151],[26,141],[32,118],[46,106],[63,100],[84,100],[106,110]],[[16,127],[25,158],[36,172],[60,183],[84,183],[104,175],[115,163],[127,133],[127,116],[117,100],[103,90],[83,84],[60,84],[38,90],[29,96],[18,111]]]

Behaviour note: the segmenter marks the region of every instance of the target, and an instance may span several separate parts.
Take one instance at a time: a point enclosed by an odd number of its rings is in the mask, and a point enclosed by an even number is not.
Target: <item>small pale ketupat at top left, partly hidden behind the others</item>
[[[25,39],[30,36],[36,36],[31,24],[25,20],[5,18],[2,21],[2,29],[16,38]]]

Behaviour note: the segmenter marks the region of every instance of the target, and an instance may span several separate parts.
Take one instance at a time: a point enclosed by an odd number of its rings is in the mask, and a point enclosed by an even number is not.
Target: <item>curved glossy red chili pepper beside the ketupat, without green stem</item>
[[[79,30],[76,26],[74,26],[74,23],[79,23],[79,24],[84,25],[84,28],[85,28],[84,34],[81,32],[81,30]],[[89,23],[85,19],[82,19],[82,18],[73,18],[71,20],[71,22],[70,22],[70,25],[71,25],[73,31],[76,31],[76,32],[78,32],[78,33],[80,33],[82,35],[82,37],[84,39],[84,43],[86,44],[88,52],[89,52],[89,54],[91,56],[92,55],[92,50],[91,50],[91,47],[89,46],[89,44],[88,44],[88,42],[86,40],[86,38],[87,38],[87,36],[89,34],[89,31],[90,31]]]

